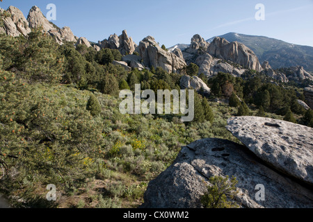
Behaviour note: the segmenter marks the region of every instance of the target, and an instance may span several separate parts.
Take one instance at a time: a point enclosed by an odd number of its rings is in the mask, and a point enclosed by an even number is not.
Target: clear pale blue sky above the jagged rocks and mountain
[[[56,5],[54,24],[93,42],[126,29],[136,44],[152,35],[167,47],[188,44],[194,34],[207,40],[230,32],[313,46],[313,0],[3,0],[0,7],[15,6],[27,17],[31,6],[47,15],[49,3]],[[264,21],[255,19],[257,3],[265,6]]]

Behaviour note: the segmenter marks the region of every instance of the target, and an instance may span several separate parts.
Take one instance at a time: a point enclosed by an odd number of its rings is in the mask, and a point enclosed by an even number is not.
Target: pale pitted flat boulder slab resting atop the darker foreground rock
[[[313,185],[313,128],[263,117],[234,117],[226,128],[275,169]]]

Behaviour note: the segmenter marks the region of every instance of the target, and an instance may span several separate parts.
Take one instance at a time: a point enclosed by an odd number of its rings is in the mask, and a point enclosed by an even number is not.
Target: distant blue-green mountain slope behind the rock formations
[[[229,42],[241,42],[255,52],[259,61],[268,61],[273,69],[280,67],[301,66],[307,71],[313,71],[313,47],[300,46],[276,40],[270,37],[227,33],[220,35]],[[214,37],[207,40],[212,42]]]

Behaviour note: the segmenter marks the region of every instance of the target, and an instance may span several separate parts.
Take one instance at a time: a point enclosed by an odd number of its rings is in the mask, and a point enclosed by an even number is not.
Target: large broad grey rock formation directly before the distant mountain
[[[227,42],[216,37],[211,44],[200,35],[194,35],[188,49],[182,52],[187,64],[191,62],[199,66],[199,74],[214,76],[225,72],[241,76],[246,69],[262,69],[255,53],[238,42]],[[236,63],[236,64],[233,64]]]

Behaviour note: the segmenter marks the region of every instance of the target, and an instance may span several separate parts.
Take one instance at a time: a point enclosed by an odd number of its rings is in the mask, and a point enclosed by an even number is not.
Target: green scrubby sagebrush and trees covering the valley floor
[[[312,112],[294,103],[296,88],[248,74],[204,79],[214,96],[195,96],[191,123],[170,114],[122,115],[120,89],[180,89],[181,76],[159,67],[127,72],[111,63],[121,58],[117,50],[60,46],[40,29],[27,38],[0,36],[0,192],[13,207],[137,207],[181,146],[207,137],[239,142],[225,129],[230,117],[283,119],[291,108],[312,126]],[[234,107],[214,102],[234,94],[242,100]],[[49,184],[55,203],[45,199]]]

